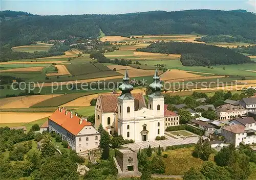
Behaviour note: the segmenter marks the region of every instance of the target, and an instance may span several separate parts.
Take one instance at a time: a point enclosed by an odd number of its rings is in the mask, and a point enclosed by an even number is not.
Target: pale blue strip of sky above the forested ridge
[[[123,14],[145,11],[189,9],[244,9],[256,13],[256,0],[165,0],[165,1],[78,1],[78,0],[0,0],[0,10],[25,11],[38,15]]]

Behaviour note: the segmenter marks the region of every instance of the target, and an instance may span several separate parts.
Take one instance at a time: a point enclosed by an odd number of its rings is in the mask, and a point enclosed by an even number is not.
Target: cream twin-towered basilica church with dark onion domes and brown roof
[[[146,105],[142,93],[132,93],[133,86],[125,70],[123,83],[119,86],[121,94],[100,94],[95,106],[95,127],[103,128],[113,135],[117,133],[124,139],[134,142],[154,141],[164,136],[164,97],[157,70],[150,84],[152,94],[148,95]]]

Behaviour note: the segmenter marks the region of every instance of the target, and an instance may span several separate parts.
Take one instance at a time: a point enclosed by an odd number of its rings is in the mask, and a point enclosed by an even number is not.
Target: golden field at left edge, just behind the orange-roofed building
[[[0,123],[31,122],[51,116],[52,113],[0,113]]]

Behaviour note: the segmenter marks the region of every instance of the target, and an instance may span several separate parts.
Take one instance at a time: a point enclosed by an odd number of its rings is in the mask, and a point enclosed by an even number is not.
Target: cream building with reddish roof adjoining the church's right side
[[[164,105],[164,129],[168,126],[180,125],[180,115],[167,110],[168,105]]]

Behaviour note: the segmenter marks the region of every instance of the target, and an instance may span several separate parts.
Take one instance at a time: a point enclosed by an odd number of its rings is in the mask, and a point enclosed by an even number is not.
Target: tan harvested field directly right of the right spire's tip
[[[163,81],[174,80],[174,79],[195,78],[195,77],[199,78],[201,77],[201,75],[191,74],[189,72],[178,70],[178,69],[171,69],[160,75],[160,79]]]

